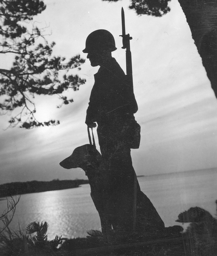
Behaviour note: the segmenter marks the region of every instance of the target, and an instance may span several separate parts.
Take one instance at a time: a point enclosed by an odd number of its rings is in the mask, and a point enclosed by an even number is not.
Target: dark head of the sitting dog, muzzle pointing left
[[[60,162],[60,166],[65,169],[82,168],[85,173],[98,168],[101,155],[95,146],[85,144],[77,147],[72,155]]]

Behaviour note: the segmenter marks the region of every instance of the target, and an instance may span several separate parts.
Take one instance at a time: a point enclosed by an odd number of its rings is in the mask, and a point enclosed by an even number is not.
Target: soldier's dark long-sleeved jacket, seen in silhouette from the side
[[[97,122],[98,125],[103,125],[126,114],[136,113],[138,107],[133,90],[114,58],[105,67],[101,66],[94,78],[86,124]]]

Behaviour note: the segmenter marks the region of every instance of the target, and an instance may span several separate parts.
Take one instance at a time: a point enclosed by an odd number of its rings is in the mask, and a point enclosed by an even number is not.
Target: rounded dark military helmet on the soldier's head
[[[83,50],[84,53],[91,51],[115,51],[115,41],[113,35],[105,29],[98,29],[93,31],[86,39],[86,47]]]

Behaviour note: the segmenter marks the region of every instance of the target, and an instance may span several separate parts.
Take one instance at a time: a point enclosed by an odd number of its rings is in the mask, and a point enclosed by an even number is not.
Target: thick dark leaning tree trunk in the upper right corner
[[[217,1],[179,0],[217,98]]]

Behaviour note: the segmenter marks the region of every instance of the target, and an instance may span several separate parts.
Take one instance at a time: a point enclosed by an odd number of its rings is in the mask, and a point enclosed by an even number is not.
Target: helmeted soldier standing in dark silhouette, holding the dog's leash
[[[89,34],[83,50],[87,53],[91,66],[100,66],[94,75],[95,83],[85,123],[89,128],[98,124],[97,134],[102,155],[98,186],[102,191],[101,200],[108,219],[108,225],[102,227],[102,231],[106,229],[107,234],[112,227],[123,232],[133,229],[135,202],[131,144],[134,140],[134,114],[138,106],[124,71],[112,57],[112,52],[116,49],[113,35],[107,30],[99,29]],[[140,191],[138,181],[136,183],[137,191]],[[151,208],[154,207],[148,198],[147,201],[151,213]],[[157,211],[155,215],[160,226],[164,227]]]

